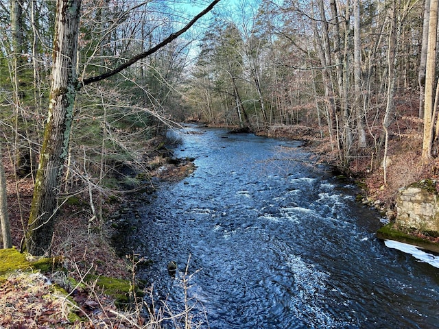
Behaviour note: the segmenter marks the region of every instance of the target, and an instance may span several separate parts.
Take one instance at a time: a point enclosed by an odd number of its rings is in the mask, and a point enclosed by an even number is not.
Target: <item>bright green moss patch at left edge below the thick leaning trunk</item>
[[[60,258],[27,257],[15,248],[0,249],[0,274],[10,271],[40,269],[49,271],[58,265]]]

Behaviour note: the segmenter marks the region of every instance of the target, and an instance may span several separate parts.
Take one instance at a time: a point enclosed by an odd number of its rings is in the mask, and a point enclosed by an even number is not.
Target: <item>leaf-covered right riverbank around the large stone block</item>
[[[325,162],[338,168],[338,173],[355,181],[361,188],[358,201],[365,206],[376,208],[389,221],[388,225],[377,232],[379,239],[394,239],[437,252],[438,236],[431,236],[420,230],[396,228],[393,225],[396,217],[396,196],[400,188],[421,180],[431,180],[436,186],[436,191],[439,191],[439,160],[431,159],[425,162],[420,158],[423,134],[419,131],[419,123],[417,117],[402,117],[399,130],[391,132],[386,173],[382,163],[377,163],[377,156],[372,147],[356,150],[355,160],[350,162],[347,168],[340,166],[340,160],[334,155],[329,138],[323,138],[318,127],[277,125],[257,134],[304,141],[305,146],[316,154],[316,158],[311,161]]]

